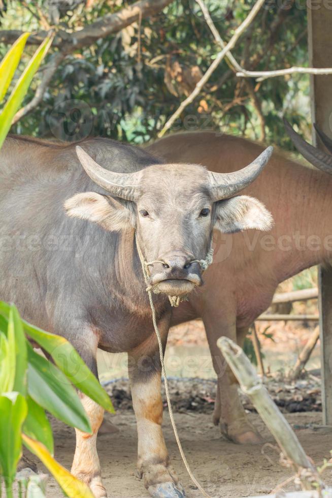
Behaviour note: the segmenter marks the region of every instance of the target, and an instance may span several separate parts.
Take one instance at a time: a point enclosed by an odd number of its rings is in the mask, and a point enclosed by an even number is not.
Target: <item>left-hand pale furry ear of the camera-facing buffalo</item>
[[[68,216],[97,223],[110,232],[126,230],[135,223],[127,202],[95,192],[74,195],[65,201],[64,209]]]

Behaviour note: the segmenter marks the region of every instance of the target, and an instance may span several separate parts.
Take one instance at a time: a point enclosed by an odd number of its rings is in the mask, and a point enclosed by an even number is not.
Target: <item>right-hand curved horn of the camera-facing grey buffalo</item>
[[[210,172],[211,184],[210,194],[214,201],[226,199],[240,192],[253,182],[264,166],[268,163],[273,147],[270,145],[257,159],[245,168],[234,173],[212,173]]]

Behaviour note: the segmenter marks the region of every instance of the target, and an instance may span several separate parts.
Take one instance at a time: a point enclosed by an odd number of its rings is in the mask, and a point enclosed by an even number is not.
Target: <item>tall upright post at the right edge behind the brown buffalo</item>
[[[309,66],[332,67],[332,5],[326,0],[307,5]],[[311,76],[310,82],[312,122],[332,137],[332,75]],[[316,145],[321,146],[318,141]],[[332,425],[332,270],[318,271],[323,424]]]

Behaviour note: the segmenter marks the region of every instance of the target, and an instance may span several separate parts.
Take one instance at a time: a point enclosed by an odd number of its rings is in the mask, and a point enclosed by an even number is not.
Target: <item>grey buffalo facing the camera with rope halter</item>
[[[138,469],[153,496],[184,492],[161,431],[158,346],[137,243],[156,292],[165,346],[168,296],[201,286],[199,261],[212,231],[270,228],[271,215],[256,199],[228,198],[258,176],[271,152],[240,171],[219,174],[195,164],[164,164],[108,139],[75,149],[10,137],[1,150],[0,299],[67,337],[96,376],[97,347],[128,352]],[[82,402],[93,434],[76,431],[72,472],[96,497],[106,496],[96,452],[103,410],[86,396]]]

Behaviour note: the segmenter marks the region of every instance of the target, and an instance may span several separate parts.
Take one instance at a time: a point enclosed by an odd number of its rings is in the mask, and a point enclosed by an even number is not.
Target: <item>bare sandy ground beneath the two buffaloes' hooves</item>
[[[176,413],[175,419],[185,453],[197,479],[213,497],[239,498],[267,494],[292,473],[279,463],[279,452],[259,416],[250,414],[250,419],[261,430],[266,443],[259,446],[237,446],[221,439],[218,428],[212,424],[211,414]],[[119,431],[101,434],[98,437],[98,453],[102,464],[102,475],[108,495],[112,498],[138,498],[148,496],[140,480],[135,477],[136,424],[130,410],[119,411],[109,416]],[[313,430],[310,424],[319,424],[320,413],[295,413],[286,415],[288,421],[301,427],[296,434],[307,454],[320,463],[329,458],[332,449],[332,432],[326,429]],[[172,433],[169,416],[165,413],[163,430],[165,440],[175,468],[185,487],[188,498],[198,498],[181,462]],[[56,458],[70,468],[75,448],[74,431],[56,424]],[[39,466],[40,470],[41,466]],[[332,484],[332,473],[326,471],[324,479]],[[294,489],[287,485],[286,489]],[[61,492],[50,480],[48,497],[58,498]]]

